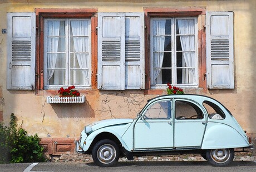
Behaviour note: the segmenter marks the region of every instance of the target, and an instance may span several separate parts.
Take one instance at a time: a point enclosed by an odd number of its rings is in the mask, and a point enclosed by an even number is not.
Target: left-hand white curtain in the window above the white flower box
[[[60,21],[47,21],[47,68],[51,68],[47,70],[47,84],[50,84],[50,79],[52,79],[53,73],[55,73],[56,61],[57,61],[57,52],[58,52],[58,41],[60,33]]]

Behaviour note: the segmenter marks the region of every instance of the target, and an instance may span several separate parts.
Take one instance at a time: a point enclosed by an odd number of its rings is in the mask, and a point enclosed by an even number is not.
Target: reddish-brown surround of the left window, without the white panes
[[[91,87],[97,88],[97,9],[96,8],[36,8],[36,89],[59,89],[55,87],[45,88],[44,84],[44,21],[46,18],[90,18],[91,20]],[[90,76],[90,75],[89,75]]]

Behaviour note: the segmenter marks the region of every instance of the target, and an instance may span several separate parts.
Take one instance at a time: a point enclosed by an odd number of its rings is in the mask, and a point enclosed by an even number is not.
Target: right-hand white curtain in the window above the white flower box
[[[88,76],[88,66],[89,66],[89,58],[88,58],[88,37],[81,37],[81,36],[88,36],[88,21],[71,21],[71,28],[74,42],[74,49],[76,53],[74,56],[77,58],[78,65],[81,70],[74,70],[73,71],[73,84],[85,84],[89,85],[89,76]],[[79,36],[79,37],[78,37]],[[76,58],[73,58],[74,62],[73,65],[76,64]]]

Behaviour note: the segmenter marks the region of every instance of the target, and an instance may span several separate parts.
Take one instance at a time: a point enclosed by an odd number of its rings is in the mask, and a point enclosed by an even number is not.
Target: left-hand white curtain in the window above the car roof
[[[153,80],[152,84],[156,84],[156,79],[159,77],[159,74],[161,72],[161,69],[156,69],[156,68],[161,68],[163,65],[163,60],[164,60],[164,44],[165,44],[165,20],[154,20],[153,22],[153,36],[154,36],[154,41],[153,41]],[[154,51],[156,51],[154,53]]]

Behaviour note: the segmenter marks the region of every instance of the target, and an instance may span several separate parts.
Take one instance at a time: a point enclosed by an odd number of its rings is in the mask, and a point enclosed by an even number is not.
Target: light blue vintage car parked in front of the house
[[[136,119],[101,120],[85,127],[77,153],[92,154],[99,166],[120,156],[200,153],[212,165],[225,166],[234,148],[250,146],[237,120],[218,101],[202,95],[163,95],[147,101]]]

